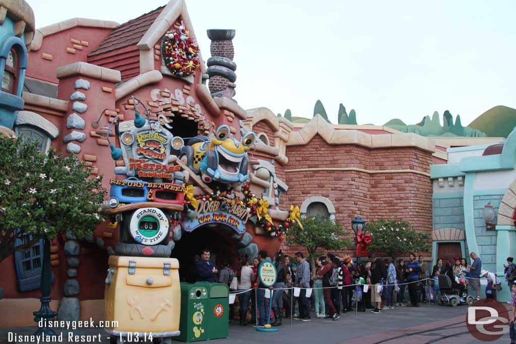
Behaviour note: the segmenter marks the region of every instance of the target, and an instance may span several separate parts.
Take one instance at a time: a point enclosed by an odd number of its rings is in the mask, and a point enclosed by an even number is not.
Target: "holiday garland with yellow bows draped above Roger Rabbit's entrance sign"
[[[255,226],[269,232],[271,236],[279,237],[280,240],[285,239],[288,229],[294,224],[297,223],[301,229],[303,228],[298,206],[291,205],[287,220],[275,225],[268,214],[269,203],[264,200],[263,197],[256,198],[256,195],[251,192],[249,184],[243,184],[241,190],[244,194],[243,200],[238,198],[230,186],[225,187],[225,189],[223,187],[216,187],[211,193],[194,196],[193,186],[189,185],[185,191],[183,205],[187,212],[192,212],[197,208],[198,201],[200,200],[219,201],[222,205],[226,203],[230,206],[240,204],[240,206],[247,208],[250,216],[249,220],[253,222]]]

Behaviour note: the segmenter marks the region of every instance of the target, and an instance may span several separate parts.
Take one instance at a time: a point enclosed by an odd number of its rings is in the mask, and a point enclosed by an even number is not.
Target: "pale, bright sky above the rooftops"
[[[81,17],[124,23],[166,0],[26,0],[36,27]],[[463,125],[516,108],[516,2],[186,0],[204,60],[207,29],[236,29],[236,96],[245,108],[331,122],[339,104],[358,124],[415,124],[434,111]]]

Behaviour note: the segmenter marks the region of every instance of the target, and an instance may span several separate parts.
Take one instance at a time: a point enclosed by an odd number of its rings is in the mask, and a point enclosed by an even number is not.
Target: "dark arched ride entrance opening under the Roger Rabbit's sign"
[[[201,255],[201,250],[206,248],[210,250],[212,261],[219,271],[224,259],[228,259],[236,269],[239,260],[238,237],[233,228],[218,223],[203,225],[192,232],[182,231],[181,240],[176,241],[171,254],[172,258],[179,260],[181,282],[195,282],[194,256]]]

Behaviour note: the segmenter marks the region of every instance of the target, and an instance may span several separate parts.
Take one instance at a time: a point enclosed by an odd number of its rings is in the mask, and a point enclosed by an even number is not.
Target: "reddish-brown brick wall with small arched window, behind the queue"
[[[316,135],[304,146],[287,146],[285,169],[346,168],[365,170],[411,169],[429,173],[431,154],[412,148],[365,149],[354,145],[329,145]],[[399,218],[408,220],[416,230],[431,231],[432,184],[430,178],[416,173],[369,174],[359,171],[287,172],[288,192],[282,206],[301,205],[310,196],[324,196],[335,207],[336,221],[343,225],[352,242],[351,220]],[[304,251],[296,245],[282,244],[287,254]],[[354,247],[340,254],[354,256]]]

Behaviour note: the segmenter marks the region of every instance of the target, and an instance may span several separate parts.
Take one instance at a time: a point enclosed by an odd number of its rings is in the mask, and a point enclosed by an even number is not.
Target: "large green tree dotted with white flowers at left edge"
[[[45,155],[32,141],[0,136],[0,261],[44,237],[88,236],[104,220],[105,194],[102,176],[75,156],[53,148]],[[25,234],[30,242],[14,247]]]

